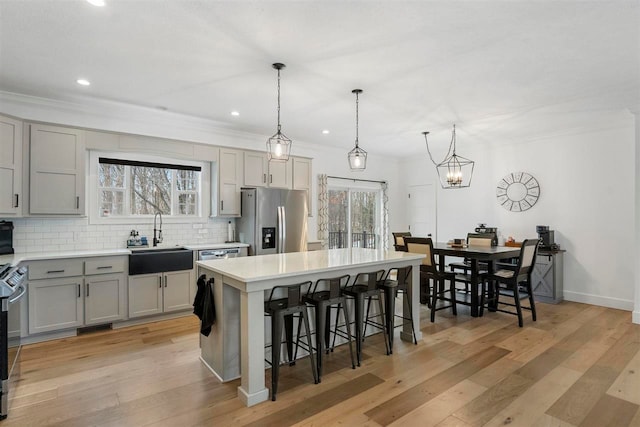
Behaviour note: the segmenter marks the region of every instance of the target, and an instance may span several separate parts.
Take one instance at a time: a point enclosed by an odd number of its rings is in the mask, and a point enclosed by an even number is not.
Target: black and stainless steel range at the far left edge
[[[20,301],[27,293],[27,267],[0,265],[0,420],[9,413],[9,388],[20,372]]]

